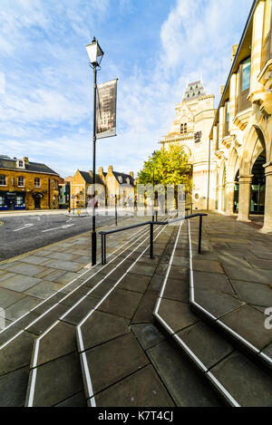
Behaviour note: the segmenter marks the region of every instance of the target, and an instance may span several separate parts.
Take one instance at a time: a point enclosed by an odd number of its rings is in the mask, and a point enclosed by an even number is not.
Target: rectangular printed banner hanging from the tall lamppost
[[[117,79],[97,86],[96,138],[116,136]]]

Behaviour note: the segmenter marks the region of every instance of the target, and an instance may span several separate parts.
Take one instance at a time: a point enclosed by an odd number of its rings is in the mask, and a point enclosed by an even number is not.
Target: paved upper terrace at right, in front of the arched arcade
[[[209,213],[203,220],[202,256],[192,222],[196,302],[222,329],[272,365],[272,236],[232,217]]]

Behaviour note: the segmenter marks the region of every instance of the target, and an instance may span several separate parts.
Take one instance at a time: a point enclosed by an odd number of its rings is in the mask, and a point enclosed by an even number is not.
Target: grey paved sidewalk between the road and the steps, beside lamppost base
[[[138,218],[127,218],[122,226],[135,224]],[[106,229],[101,227],[97,229]],[[112,226],[111,226],[112,228]],[[118,240],[124,243],[130,235],[121,233],[109,238],[107,253],[114,251]],[[112,245],[113,244],[113,245]],[[100,237],[98,237],[98,263]],[[0,324],[1,328],[15,322],[45,299],[55,295],[91,266],[91,232],[44,246],[23,256],[0,263]]]

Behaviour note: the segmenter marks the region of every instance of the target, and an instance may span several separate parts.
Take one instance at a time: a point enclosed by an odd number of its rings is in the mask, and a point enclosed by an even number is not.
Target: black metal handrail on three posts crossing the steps
[[[106,264],[106,236],[110,235],[112,233],[119,233],[122,232],[124,230],[130,230],[131,228],[137,228],[137,227],[142,227],[142,226],[148,226],[150,225],[151,227],[151,231],[150,231],[150,258],[153,258],[153,245],[154,245],[154,241],[153,241],[153,230],[154,230],[154,226],[166,226],[169,225],[171,223],[176,223],[178,221],[182,221],[182,220],[188,220],[189,218],[194,218],[194,217],[199,217],[199,254],[201,254],[201,238],[202,238],[202,217],[207,217],[208,214],[205,213],[197,213],[197,214],[191,214],[189,216],[185,216],[185,217],[178,217],[178,218],[172,218],[170,220],[167,221],[145,221],[144,223],[139,223],[137,225],[131,225],[131,226],[127,226],[127,227],[121,227],[121,228],[116,228],[114,230],[108,230],[108,231],[100,231],[99,234],[102,236],[102,265]]]

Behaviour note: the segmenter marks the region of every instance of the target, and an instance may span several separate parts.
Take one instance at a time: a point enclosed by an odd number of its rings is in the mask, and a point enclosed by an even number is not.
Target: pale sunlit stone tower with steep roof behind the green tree
[[[208,95],[203,82],[189,82],[183,100],[176,106],[176,118],[160,143],[166,148],[180,143],[192,166],[193,208],[206,209],[209,187],[209,131],[214,121],[214,96]],[[187,201],[190,199],[187,197]]]

